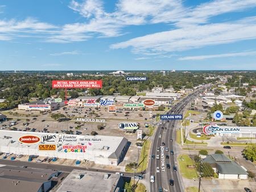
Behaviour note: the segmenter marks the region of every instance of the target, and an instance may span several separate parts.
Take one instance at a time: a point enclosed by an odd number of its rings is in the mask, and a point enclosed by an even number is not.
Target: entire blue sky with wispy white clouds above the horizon
[[[2,0],[0,70],[256,69],[256,0]]]

